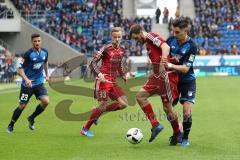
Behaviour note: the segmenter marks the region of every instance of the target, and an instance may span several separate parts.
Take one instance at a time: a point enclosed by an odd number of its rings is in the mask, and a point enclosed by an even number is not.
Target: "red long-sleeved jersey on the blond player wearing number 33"
[[[124,76],[123,57],[125,49],[122,46],[114,48],[112,44],[103,46],[93,57],[91,66],[93,71],[105,74],[106,80],[115,81],[117,73]],[[97,63],[102,60],[102,65],[99,68]]]

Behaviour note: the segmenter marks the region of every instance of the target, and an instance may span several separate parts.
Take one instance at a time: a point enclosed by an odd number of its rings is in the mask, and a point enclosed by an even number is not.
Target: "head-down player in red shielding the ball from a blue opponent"
[[[131,27],[130,37],[141,44],[146,43],[147,49],[149,50],[149,58],[153,65],[153,74],[150,75],[148,81],[136,95],[138,104],[152,124],[152,133],[149,142],[152,142],[164,128],[158,122],[156,116],[154,115],[152,106],[148,101],[149,97],[154,94],[158,94],[162,98],[164,111],[172,125],[174,132],[173,137],[176,139],[177,143],[181,141],[181,132],[179,130],[177,115],[172,109],[172,103],[173,99],[178,96],[178,76],[175,72],[168,74],[165,70],[165,64],[169,59],[170,48],[159,35],[152,32],[145,32],[138,24]]]

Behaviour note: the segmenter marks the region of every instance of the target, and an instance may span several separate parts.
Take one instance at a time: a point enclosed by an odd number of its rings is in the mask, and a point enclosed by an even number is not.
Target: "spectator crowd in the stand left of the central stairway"
[[[123,18],[122,0],[12,0],[22,16],[34,26],[53,35],[72,48],[92,56],[111,40],[111,27],[123,28],[123,44],[129,55],[146,50],[130,41],[128,30],[140,23],[147,32],[151,18]],[[132,44],[134,43],[134,44]],[[130,52],[131,48],[131,52]]]

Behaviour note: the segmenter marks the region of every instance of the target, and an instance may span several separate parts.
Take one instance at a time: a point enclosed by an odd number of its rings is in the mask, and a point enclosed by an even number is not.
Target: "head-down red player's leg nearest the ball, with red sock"
[[[147,92],[144,88],[140,89],[140,91],[136,95],[136,100],[145,113],[145,115],[148,117],[149,121],[152,124],[151,129],[151,137],[149,139],[149,142],[152,142],[157,135],[163,130],[163,126],[158,122],[151,104],[148,101],[148,98],[151,96],[149,92]]]

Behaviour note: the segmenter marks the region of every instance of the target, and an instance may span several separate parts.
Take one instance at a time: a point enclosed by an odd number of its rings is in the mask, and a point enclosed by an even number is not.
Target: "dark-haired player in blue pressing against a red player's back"
[[[189,30],[188,19],[185,17],[175,19],[172,27],[174,36],[169,37],[167,40],[167,44],[170,46],[170,60],[172,63],[168,63],[167,67],[179,73],[178,91],[180,99],[178,100],[183,105],[183,139],[181,145],[188,146],[190,145],[188,135],[192,126],[191,110],[196,94],[193,62],[197,54],[197,47],[187,34]],[[172,140],[170,138],[170,143]]]

